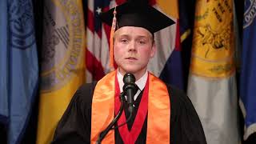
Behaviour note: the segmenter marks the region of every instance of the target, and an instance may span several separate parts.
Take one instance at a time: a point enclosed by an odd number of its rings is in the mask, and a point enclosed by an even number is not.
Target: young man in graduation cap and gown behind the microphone
[[[117,22],[112,22],[113,12]],[[74,94],[55,131],[53,143],[95,143],[120,107],[122,78],[134,74],[138,92],[129,122],[110,130],[102,143],[205,144],[201,122],[189,98],[181,90],[167,86],[147,71],[156,46],[154,32],[172,25],[166,15],[141,2],[126,2],[102,14],[102,21],[116,26],[114,61],[118,70],[99,82],[85,84]],[[124,112],[114,126],[126,122]]]

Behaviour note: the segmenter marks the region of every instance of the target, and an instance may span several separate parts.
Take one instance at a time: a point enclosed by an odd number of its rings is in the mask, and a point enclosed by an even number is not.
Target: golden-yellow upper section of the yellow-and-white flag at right
[[[198,0],[190,72],[207,78],[234,74],[232,0]]]

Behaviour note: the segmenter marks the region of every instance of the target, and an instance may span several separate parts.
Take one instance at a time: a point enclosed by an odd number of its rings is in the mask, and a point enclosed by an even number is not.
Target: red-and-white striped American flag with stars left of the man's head
[[[110,0],[87,1],[86,82],[98,81],[110,72],[110,26],[102,24],[99,14],[116,3]]]

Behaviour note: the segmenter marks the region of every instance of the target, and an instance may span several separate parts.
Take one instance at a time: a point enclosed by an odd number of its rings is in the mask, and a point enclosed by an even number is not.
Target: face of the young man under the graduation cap
[[[114,34],[114,60],[121,74],[141,77],[150,58],[154,57],[152,34],[142,27],[124,26]]]

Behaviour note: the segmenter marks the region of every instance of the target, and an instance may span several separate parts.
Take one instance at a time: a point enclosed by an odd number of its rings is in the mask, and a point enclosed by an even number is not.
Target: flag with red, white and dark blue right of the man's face
[[[184,89],[179,3],[176,0],[150,0],[150,4],[166,14],[175,24],[154,34],[157,51],[149,62],[148,70],[161,78],[163,82]]]

